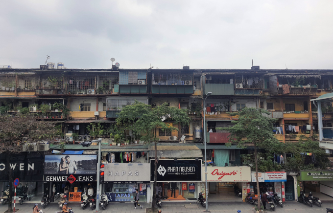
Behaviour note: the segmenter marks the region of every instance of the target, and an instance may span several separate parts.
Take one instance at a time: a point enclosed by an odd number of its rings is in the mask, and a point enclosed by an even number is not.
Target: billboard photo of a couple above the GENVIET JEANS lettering
[[[44,174],[95,174],[97,155],[45,155]]]

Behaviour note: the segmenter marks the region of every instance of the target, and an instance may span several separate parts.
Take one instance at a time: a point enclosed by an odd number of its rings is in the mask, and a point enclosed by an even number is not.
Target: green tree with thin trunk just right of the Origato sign
[[[263,114],[270,113],[261,108],[245,107],[239,112],[232,112],[230,114],[232,116],[238,116],[238,120],[232,121],[234,126],[216,129],[229,130],[231,133],[229,143],[226,144],[227,146],[231,146],[231,144],[236,144],[240,148],[254,146],[257,192],[259,193],[257,149],[280,149],[281,143],[276,139],[272,131],[273,123],[278,119],[265,117]],[[259,194],[258,197],[260,197]],[[258,209],[260,209],[260,207],[261,203],[258,202]]]

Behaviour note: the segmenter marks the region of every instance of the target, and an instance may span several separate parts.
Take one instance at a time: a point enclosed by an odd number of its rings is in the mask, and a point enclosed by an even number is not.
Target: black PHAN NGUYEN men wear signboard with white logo
[[[200,160],[159,160],[157,165],[157,181],[201,181]],[[154,160],[150,160],[150,181],[154,181]]]

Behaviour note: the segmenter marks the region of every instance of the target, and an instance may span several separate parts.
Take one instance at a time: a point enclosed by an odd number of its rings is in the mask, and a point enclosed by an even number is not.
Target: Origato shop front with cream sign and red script
[[[201,179],[205,181],[205,168],[202,168]],[[250,167],[207,167],[209,200],[243,201],[246,197],[246,183],[251,181]],[[205,193],[205,182],[201,192]],[[238,191],[240,190],[240,191]],[[241,193],[241,194],[239,194]],[[237,197],[236,197],[237,195]]]

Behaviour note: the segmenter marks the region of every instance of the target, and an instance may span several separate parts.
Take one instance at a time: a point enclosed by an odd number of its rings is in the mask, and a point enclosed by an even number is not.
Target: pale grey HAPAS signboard
[[[104,182],[110,183],[149,183],[149,163],[119,163],[104,166]]]

